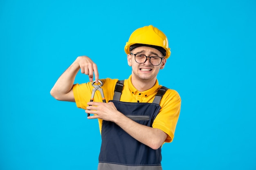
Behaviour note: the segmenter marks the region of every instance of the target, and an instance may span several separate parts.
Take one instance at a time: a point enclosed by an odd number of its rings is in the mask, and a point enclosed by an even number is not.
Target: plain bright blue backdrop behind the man
[[[1,0],[0,169],[97,169],[97,120],[49,91],[79,55],[128,78],[124,45],[149,24],[172,51],[157,78],[182,97],[164,170],[255,170],[254,0]]]

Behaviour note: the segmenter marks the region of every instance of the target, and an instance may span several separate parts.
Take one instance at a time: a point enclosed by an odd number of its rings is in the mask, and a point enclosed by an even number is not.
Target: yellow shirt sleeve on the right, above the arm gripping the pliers
[[[165,142],[172,142],[180,115],[181,98],[175,90],[168,89],[160,102],[161,109],[153,122],[153,128],[163,130],[168,136]]]

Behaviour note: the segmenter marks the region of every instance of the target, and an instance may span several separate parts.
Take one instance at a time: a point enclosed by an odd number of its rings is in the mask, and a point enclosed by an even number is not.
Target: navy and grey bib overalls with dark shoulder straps
[[[113,102],[118,111],[139,124],[152,127],[167,88],[159,89],[153,103],[120,102],[123,82],[117,82]],[[121,86],[121,88],[120,88]],[[118,89],[119,88],[119,89]],[[102,122],[98,170],[162,170],[161,147],[154,150],[131,137],[112,121]]]

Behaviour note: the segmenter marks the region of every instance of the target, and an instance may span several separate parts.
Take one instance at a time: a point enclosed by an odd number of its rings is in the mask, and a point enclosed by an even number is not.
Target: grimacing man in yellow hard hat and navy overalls
[[[89,102],[93,74],[97,84],[99,73],[87,56],[76,58],[59,77],[51,95],[76,102],[92,114],[88,119],[99,120],[102,144],[98,170],[162,170],[161,146],[173,140],[181,106],[179,94],[157,81],[159,70],[171,55],[168,40],[156,27],[144,26],[130,35],[125,52],[132,67],[130,77],[100,80],[107,103],[102,102],[100,93]],[[90,82],[74,84],[79,69]]]

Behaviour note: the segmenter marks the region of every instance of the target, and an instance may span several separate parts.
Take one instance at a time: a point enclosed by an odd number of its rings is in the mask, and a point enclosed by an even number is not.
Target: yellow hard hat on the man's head
[[[139,46],[153,47],[162,52],[165,58],[168,58],[171,55],[166,35],[152,25],[144,26],[133,31],[128,42],[126,42],[126,45],[124,46],[124,51],[126,54],[130,54],[130,50]]]

